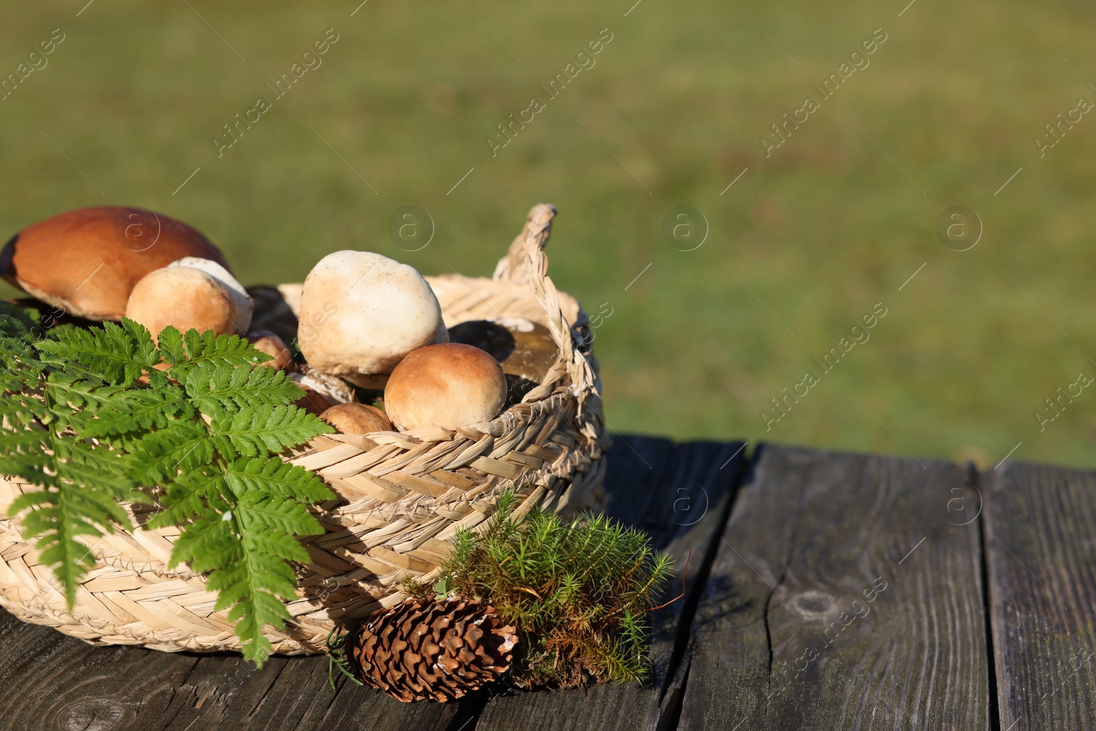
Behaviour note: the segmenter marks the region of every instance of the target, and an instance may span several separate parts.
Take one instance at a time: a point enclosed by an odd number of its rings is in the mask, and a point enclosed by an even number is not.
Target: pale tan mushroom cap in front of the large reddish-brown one
[[[239,313],[231,289],[219,279],[190,266],[164,266],[137,283],[125,316],[148,328],[155,340],[168,325],[180,332],[232,333]]]

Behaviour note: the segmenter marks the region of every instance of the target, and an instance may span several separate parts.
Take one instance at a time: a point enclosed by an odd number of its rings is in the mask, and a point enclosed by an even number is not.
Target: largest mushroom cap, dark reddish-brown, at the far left
[[[134,286],[183,256],[228,267],[185,224],[124,206],[81,208],[16,233],[0,252],[0,276],[31,296],[90,320],[119,320]]]

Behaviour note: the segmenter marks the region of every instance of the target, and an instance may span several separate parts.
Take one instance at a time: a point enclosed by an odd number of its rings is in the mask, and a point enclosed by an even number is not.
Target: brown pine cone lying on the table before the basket
[[[492,606],[408,599],[363,623],[347,655],[357,677],[393,698],[446,701],[510,670],[516,644]]]

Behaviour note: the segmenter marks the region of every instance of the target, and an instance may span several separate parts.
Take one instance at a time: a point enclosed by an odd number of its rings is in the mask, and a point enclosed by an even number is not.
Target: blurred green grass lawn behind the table
[[[202,229],[244,283],[300,281],[345,248],[489,274],[548,201],[553,278],[612,308],[596,350],[617,431],[989,466],[1023,442],[1016,457],[1096,466],[1096,388],[1043,432],[1035,416],[1096,375],[1096,114],[1043,158],[1032,141],[1096,101],[1091,5],[84,1],[0,10],[0,75],[66,34],[0,101],[0,231],[130,204]],[[218,158],[221,125],[332,27],[323,65]],[[604,27],[596,66],[492,158],[495,125]],[[870,66],[766,158],[761,135],[880,27]],[[436,222],[422,251],[388,237],[404,205]],[[663,239],[677,205],[707,218],[695,251]],[[936,237],[951,205],[984,224],[970,251]],[[870,341],[766,433],[769,399],[876,302]]]

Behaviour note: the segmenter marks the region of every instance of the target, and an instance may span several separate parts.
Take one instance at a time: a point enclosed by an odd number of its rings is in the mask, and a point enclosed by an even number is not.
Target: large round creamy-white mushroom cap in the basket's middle
[[[300,294],[297,342],[308,363],[338,375],[387,374],[448,332],[434,290],[407,264],[367,251],[319,261]]]

